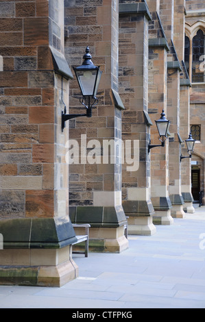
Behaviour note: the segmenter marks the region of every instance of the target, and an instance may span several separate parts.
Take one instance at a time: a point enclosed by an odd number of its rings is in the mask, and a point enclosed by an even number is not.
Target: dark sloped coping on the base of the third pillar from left
[[[154,214],[151,200],[124,200],[122,204],[125,214],[129,216],[152,216]]]

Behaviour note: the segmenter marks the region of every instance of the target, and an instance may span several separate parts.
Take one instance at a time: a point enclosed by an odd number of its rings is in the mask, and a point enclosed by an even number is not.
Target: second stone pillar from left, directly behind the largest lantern
[[[93,63],[103,71],[99,103],[93,108],[93,116],[70,121],[70,138],[77,140],[77,145],[84,151],[84,158],[78,164],[70,165],[71,220],[91,224],[91,251],[120,252],[128,247],[128,240],[124,236],[127,220],[121,205],[121,146],[117,144],[121,142],[121,110],[124,108],[118,94],[118,1],[94,0],[76,4],[67,1],[65,22],[65,51],[69,64],[80,65],[88,45]],[[79,91],[74,81],[71,86],[72,113],[84,111]],[[113,147],[116,143],[116,149],[109,150],[108,143]],[[93,148],[100,152],[99,158]]]

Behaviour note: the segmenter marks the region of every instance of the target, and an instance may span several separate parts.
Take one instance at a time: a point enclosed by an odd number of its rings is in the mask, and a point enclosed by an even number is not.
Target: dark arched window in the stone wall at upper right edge
[[[205,34],[202,29],[192,39],[185,35],[184,63],[191,82],[205,82]]]

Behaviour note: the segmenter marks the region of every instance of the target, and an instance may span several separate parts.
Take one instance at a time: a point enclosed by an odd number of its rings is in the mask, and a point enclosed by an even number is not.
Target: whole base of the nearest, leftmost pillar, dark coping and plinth
[[[0,284],[62,286],[78,275],[69,216],[0,221]]]

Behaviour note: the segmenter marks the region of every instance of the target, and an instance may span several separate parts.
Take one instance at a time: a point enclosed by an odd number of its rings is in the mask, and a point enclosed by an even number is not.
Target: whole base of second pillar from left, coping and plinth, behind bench
[[[89,223],[89,251],[120,253],[128,248],[128,239],[124,236],[127,224],[122,206],[72,206],[70,216],[73,223]],[[75,234],[80,233],[75,227]],[[75,250],[84,245],[75,245]],[[74,246],[73,246],[74,250]]]

